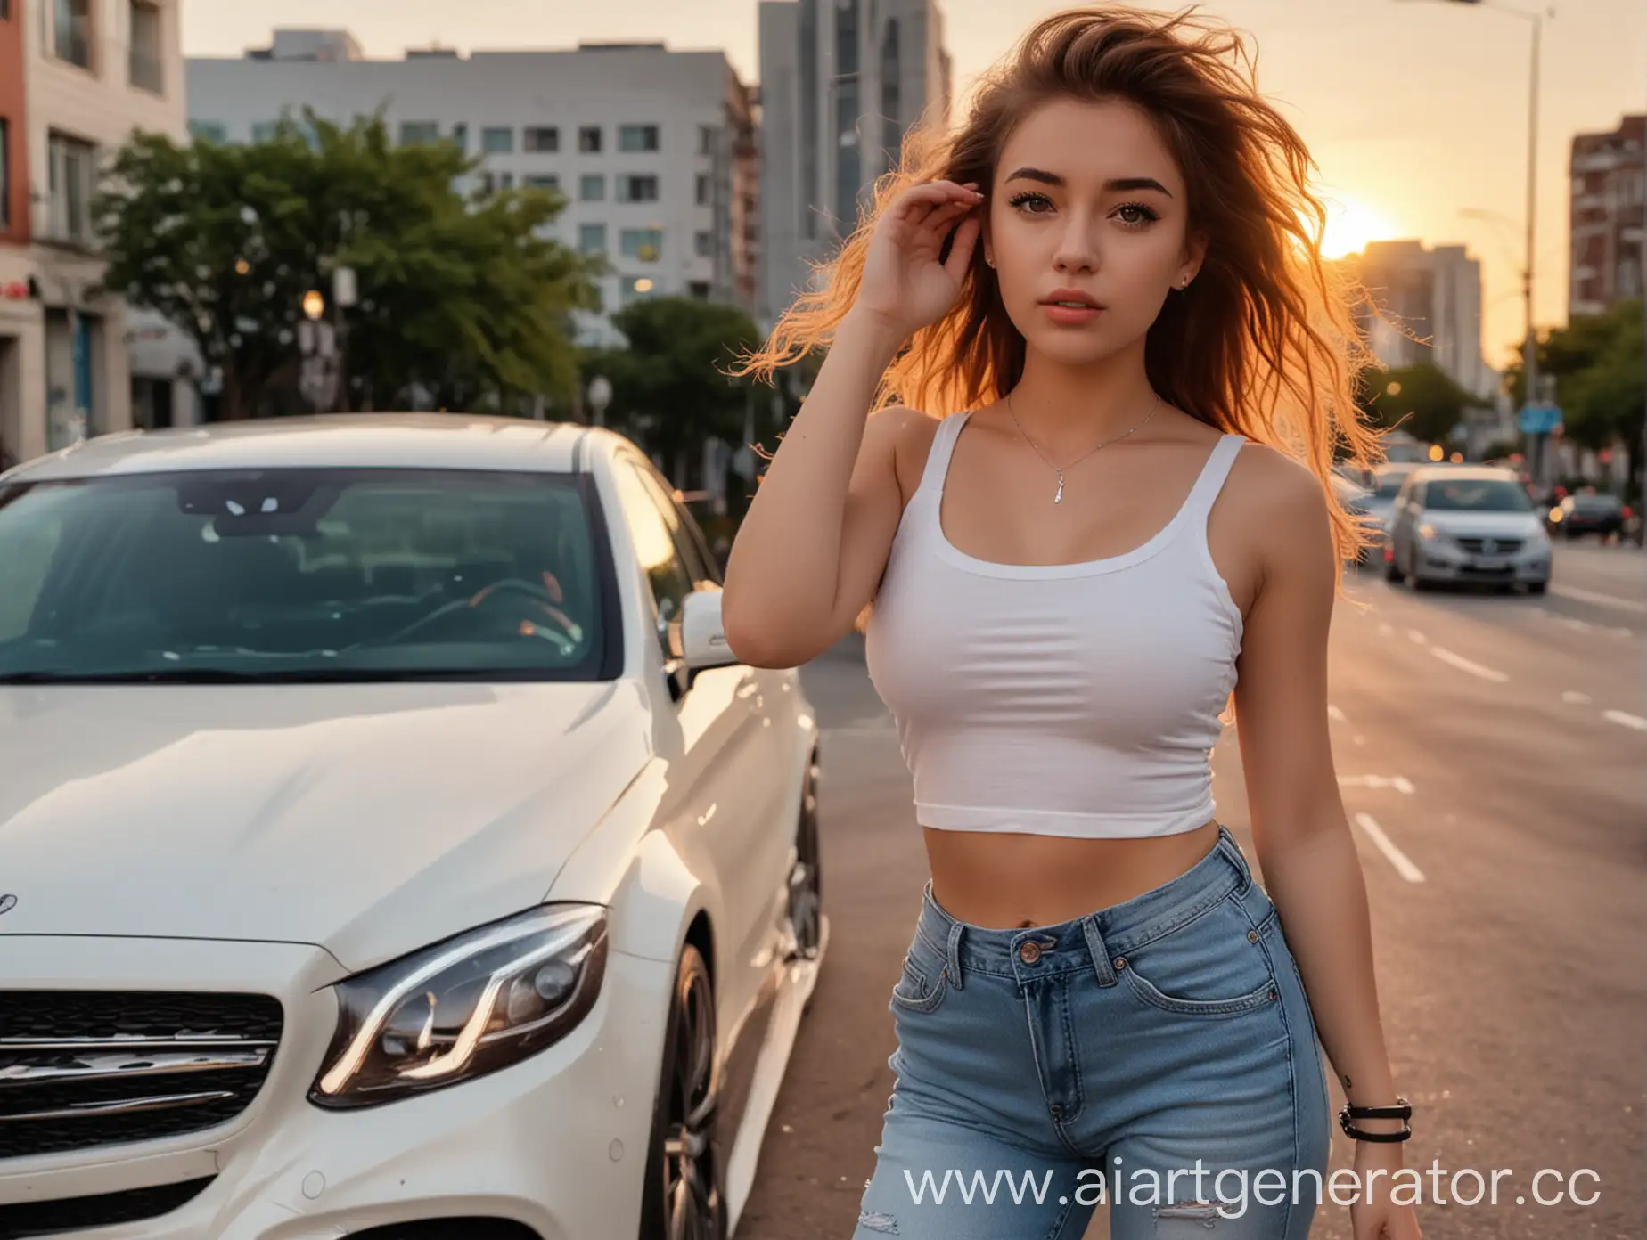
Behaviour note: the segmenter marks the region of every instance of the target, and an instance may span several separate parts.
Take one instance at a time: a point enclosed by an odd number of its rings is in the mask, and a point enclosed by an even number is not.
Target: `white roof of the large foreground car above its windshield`
[[[99,435],[5,474],[8,482],[173,469],[496,469],[580,473],[619,436],[573,422],[471,413],[326,413]]]

